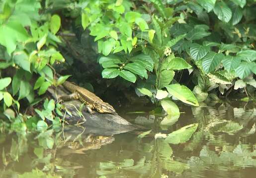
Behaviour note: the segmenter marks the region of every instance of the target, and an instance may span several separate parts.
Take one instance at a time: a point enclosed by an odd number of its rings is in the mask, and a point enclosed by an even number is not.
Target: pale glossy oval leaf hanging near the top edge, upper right
[[[224,1],[217,2],[213,11],[223,22],[229,22],[232,17],[232,11]]]

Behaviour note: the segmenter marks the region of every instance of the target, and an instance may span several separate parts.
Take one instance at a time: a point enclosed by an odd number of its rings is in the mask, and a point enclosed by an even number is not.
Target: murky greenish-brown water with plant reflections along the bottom
[[[161,125],[163,116],[126,114],[138,108],[126,107],[119,113],[152,130],[143,138],[137,138],[138,132],[113,137],[66,133],[65,144],[59,141],[54,149],[43,150],[39,146],[42,143],[32,135],[27,139],[1,135],[0,177],[23,174],[27,178],[31,175],[26,172],[32,170],[35,178],[40,174],[45,177],[39,170],[64,178],[256,177],[254,103],[227,101],[197,108],[181,105],[183,113],[178,121],[165,125]],[[169,134],[193,123],[199,124],[197,131],[185,143],[169,144],[163,138],[154,138],[154,133]],[[82,132],[77,128],[76,133]]]

